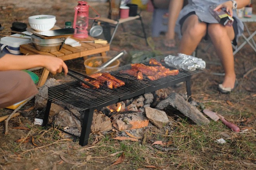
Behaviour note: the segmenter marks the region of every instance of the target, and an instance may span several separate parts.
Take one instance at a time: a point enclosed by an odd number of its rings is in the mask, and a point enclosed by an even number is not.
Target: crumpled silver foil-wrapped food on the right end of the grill
[[[195,71],[196,69],[203,70],[206,66],[205,61],[201,58],[182,53],[178,53],[178,56],[166,56],[164,62],[170,67],[184,71]]]

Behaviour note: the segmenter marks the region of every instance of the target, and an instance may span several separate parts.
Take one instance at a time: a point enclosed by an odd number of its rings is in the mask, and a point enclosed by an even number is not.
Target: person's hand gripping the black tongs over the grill
[[[45,68],[50,71],[53,75],[56,73],[61,73],[62,68],[64,70],[64,74],[67,75],[67,65],[64,61],[57,57],[45,56]]]

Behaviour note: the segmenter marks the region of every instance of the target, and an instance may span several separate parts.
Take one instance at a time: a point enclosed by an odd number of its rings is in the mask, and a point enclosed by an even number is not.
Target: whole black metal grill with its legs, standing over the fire
[[[163,59],[163,56],[158,56],[155,59]],[[144,60],[139,63],[149,65],[149,60]],[[186,82],[187,95],[191,96],[190,78],[193,74],[200,71],[185,72],[180,71],[178,75],[167,76],[159,80],[137,80],[133,76],[119,74],[120,70],[130,69],[131,65],[121,66],[116,70],[108,71],[111,75],[125,82],[125,86],[117,89],[108,89],[100,87],[99,89],[83,88],[78,80],[69,83],[48,87],[48,99],[43,119],[43,126],[47,126],[50,107],[52,102],[62,103],[66,106],[73,107],[81,112],[84,112],[83,124],[79,144],[85,146],[88,144],[90,134],[93,110],[100,109],[107,105],[115,104],[126,99],[154,92],[161,88],[169,87],[180,82]],[[166,66],[166,68],[170,68]],[[189,98],[191,101],[191,98]]]

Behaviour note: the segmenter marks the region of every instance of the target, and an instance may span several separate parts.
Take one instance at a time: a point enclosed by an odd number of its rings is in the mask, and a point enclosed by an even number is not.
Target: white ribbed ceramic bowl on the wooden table
[[[34,15],[28,17],[28,23],[36,31],[49,31],[56,23],[54,15]]]

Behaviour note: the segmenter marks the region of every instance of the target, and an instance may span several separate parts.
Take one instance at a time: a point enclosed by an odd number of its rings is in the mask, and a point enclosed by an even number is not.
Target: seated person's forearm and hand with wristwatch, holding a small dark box
[[[250,0],[236,0],[237,2],[237,8],[242,8],[242,7],[245,7],[246,5],[248,5],[250,3]],[[220,5],[218,5],[214,11],[220,9],[220,8],[226,8],[227,12],[229,12],[229,14],[231,16],[233,16],[233,3],[232,1],[227,1],[227,2],[224,2],[224,3],[221,3]]]

